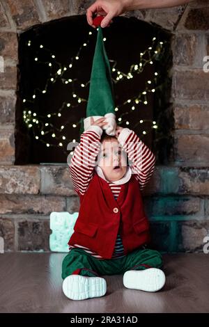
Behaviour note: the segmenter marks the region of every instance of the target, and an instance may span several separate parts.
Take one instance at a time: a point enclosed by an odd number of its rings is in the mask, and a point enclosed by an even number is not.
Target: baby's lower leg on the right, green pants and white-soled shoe
[[[126,257],[123,285],[130,289],[156,292],[165,283],[162,255],[156,250],[134,250]]]

